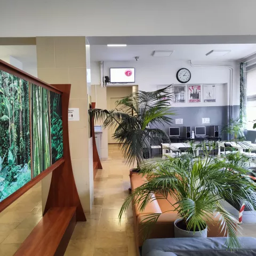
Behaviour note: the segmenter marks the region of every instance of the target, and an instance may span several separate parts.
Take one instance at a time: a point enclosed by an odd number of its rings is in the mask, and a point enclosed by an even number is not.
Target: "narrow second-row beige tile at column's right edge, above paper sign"
[[[70,99],[87,99],[86,68],[69,68]]]

